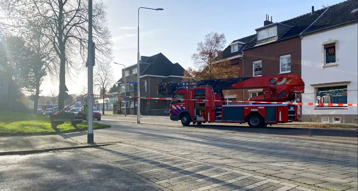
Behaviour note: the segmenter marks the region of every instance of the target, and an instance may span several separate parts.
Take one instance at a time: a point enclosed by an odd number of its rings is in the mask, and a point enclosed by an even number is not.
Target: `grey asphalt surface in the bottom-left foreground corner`
[[[78,151],[0,156],[2,191],[158,191],[115,165]]]

